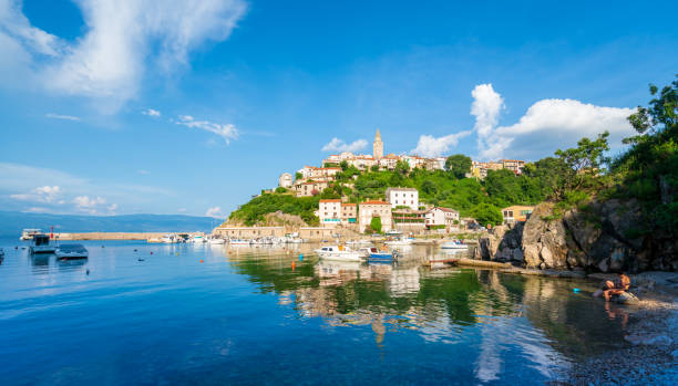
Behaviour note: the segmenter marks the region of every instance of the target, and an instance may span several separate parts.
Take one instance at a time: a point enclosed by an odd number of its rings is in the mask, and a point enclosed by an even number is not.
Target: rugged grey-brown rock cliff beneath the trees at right
[[[475,259],[540,269],[678,270],[678,240],[641,231],[636,201],[592,201],[563,216],[553,208],[541,204],[527,221],[494,228],[481,238]]]

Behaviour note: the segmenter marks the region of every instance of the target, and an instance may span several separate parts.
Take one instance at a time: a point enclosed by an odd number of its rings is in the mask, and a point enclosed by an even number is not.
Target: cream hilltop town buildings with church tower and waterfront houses
[[[243,227],[243,223],[233,221],[237,215],[232,215],[232,219],[219,229],[227,237],[278,236],[290,230],[301,231],[306,238],[322,238],[346,231],[438,234],[477,230],[489,223],[524,221],[533,210],[533,206],[512,205],[501,209],[501,218],[495,218],[491,222],[479,221],[472,216],[462,216],[463,208],[446,207],[435,200],[420,199],[418,188],[400,186],[393,184],[398,181],[391,180],[384,184],[383,194],[370,194],[364,199],[351,196],[357,189],[359,178],[369,174],[391,173],[398,176],[414,174],[417,170],[442,175],[450,173],[448,157],[384,155],[383,149],[381,133],[377,129],[371,155],[348,152],[330,155],[320,166],[304,166],[294,176],[290,173],[281,174],[276,189],[266,189],[261,195],[253,196],[256,200],[266,195],[279,195],[287,196],[288,200],[294,197],[300,202],[304,202],[304,199],[316,198],[311,201],[315,205],[314,218],[306,221],[310,223],[290,221],[292,217],[285,217],[285,213],[290,211],[285,210],[286,206],[281,205],[280,208],[268,208],[266,220],[256,223],[257,227]],[[508,170],[513,176],[521,176],[525,167],[525,161],[515,159],[484,163],[468,158],[466,163],[468,169],[463,170],[462,178],[476,181],[485,179],[490,170]],[[427,188],[425,184],[422,188]],[[480,185],[477,190],[481,190]],[[271,216],[270,211],[278,212],[278,216]],[[278,226],[273,227],[274,225]],[[309,225],[317,226],[308,227]]]

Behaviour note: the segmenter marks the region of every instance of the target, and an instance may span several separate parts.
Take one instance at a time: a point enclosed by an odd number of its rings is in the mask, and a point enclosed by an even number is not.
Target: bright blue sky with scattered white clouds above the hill
[[[0,0],[0,210],[225,217],[342,150],[537,160],[678,74],[676,1]]]

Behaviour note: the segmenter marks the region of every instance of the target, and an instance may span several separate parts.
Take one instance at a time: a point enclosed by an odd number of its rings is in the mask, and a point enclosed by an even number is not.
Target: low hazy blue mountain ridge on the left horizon
[[[24,228],[55,232],[210,231],[223,220],[183,215],[78,216],[0,210],[0,237],[19,237]]]

